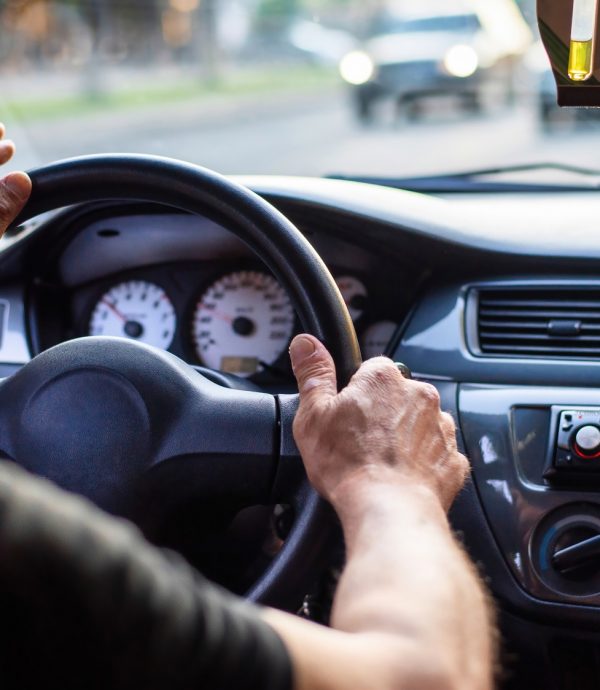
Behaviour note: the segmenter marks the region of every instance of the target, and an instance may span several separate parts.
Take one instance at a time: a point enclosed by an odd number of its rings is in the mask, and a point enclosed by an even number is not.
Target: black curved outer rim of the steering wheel
[[[360,365],[352,320],[327,267],[299,230],[250,190],[199,166],[154,156],[86,156],[29,174],[32,195],[14,225],[56,208],[107,200],[159,203],[220,223],[287,289],[304,329],[332,353],[340,388]],[[293,405],[291,410],[288,416],[293,415]],[[326,555],[330,510],[307,481],[298,494],[300,511],[294,526],[278,556],[247,593],[250,600],[293,606],[292,591],[305,586],[307,572]]]

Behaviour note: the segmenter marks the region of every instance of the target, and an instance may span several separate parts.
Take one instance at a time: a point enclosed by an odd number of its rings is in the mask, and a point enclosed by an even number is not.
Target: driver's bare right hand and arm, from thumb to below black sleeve
[[[340,518],[347,553],[334,630],[267,614],[291,650],[297,690],[489,690],[490,613],[446,519],[469,465],[437,390],[378,357],[338,393],[316,338],[297,336],[290,355],[296,443]]]

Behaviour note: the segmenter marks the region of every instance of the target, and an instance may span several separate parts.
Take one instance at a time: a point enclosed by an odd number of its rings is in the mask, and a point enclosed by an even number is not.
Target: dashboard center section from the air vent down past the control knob
[[[529,299],[523,281],[518,284]],[[570,289],[569,281],[565,285]],[[472,334],[487,328],[492,317],[483,314],[472,293],[473,284],[433,287],[393,356],[415,377],[437,386],[472,466],[451,522],[498,606],[512,655],[503,660],[513,673],[503,690],[595,689],[600,678],[600,356],[483,352],[473,346]],[[496,312],[521,308],[512,306],[512,295],[501,297],[505,303],[494,305]],[[521,328],[526,321],[509,316],[502,328],[515,323]],[[566,324],[551,321],[548,337]],[[546,337],[546,326],[541,328],[541,335],[523,336],[527,347],[537,348]],[[494,347],[505,350],[503,334],[495,335],[500,344]]]

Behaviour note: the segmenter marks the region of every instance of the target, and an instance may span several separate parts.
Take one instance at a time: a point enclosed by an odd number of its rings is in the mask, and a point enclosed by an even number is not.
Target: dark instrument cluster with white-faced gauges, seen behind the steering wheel
[[[294,306],[226,228],[172,211],[124,208],[80,217],[70,232],[33,290],[34,351],[73,337],[117,336],[263,386],[292,385],[287,349],[301,330]],[[418,274],[398,271],[377,251],[313,239],[330,258],[363,357],[383,354]]]

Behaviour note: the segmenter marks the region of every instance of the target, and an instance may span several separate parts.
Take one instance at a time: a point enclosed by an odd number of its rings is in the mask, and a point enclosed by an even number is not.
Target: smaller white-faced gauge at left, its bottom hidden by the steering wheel
[[[120,283],[104,294],[90,318],[90,335],[113,335],[166,350],[177,318],[166,292],[143,280]]]

